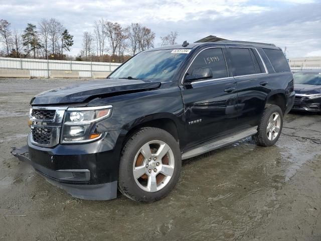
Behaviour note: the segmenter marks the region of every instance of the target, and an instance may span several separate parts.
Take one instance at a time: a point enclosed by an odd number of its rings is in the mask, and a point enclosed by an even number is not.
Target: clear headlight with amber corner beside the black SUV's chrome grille
[[[101,138],[95,123],[111,115],[112,106],[68,108],[63,125],[62,143],[85,143]]]

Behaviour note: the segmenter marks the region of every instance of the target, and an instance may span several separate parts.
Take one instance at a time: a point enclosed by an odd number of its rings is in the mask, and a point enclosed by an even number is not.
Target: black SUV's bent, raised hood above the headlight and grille
[[[42,92],[32,98],[32,105],[84,102],[88,98],[124,91],[157,88],[161,82],[135,79],[90,80]]]

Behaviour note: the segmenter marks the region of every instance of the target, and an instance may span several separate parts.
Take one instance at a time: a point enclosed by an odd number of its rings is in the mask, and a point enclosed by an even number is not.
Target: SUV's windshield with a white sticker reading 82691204
[[[183,52],[183,51],[182,51]],[[189,51],[156,50],[135,55],[119,67],[109,78],[171,81]]]

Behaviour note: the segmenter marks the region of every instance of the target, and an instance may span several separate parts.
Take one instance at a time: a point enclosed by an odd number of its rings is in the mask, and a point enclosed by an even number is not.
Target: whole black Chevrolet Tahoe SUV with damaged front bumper
[[[220,41],[139,53],[107,79],[31,100],[28,146],[13,150],[71,195],[163,198],[188,159],[252,136],[278,140],[293,76],[272,44]],[[200,184],[201,185],[201,184]]]

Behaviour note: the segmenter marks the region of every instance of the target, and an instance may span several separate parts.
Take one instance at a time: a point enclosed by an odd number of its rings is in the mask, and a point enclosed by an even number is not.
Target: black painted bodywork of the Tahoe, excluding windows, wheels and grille
[[[234,76],[233,61],[227,50],[229,47],[257,49],[267,72]],[[32,99],[32,106],[112,105],[112,112],[108,118],[95,123],[95,130],[104,135],[91,143],[64,145],[60,142],[53,148],[46,148],[32,144],[29,136],[30,162],[36,169],[43,167],[37,170],[60,184],[113,183],[108,190],[112,190],[111,196],[114,197],[121,149],[126,138],[139,127],[174,127],[169,130],[173,131],[172,135],[177,138],[184,153],[214,138],[224,138],[256,127],[265,104],[273,96],[282,99],[284,113],[287,113],[294,102],[292,73],[276,73],[262,47],[279,50],[272,45],[233,44],[227,41],[224,44],[191,44],[186,47],[191,51],[169,82],[105,79],[43,92]],[[182,46],[159,49],[169,48],[181,49]],[[215,79],[214,76],[206,81],[185,84],[185,75],[194,58],[208,48],[222,48],[226,77]],[[213,56],[211,58],[214,59]],[[261,60],[258,64],[262,66]],[[61,173],[57,173],[61,170],[68,174],[62,177]],[[74,175],[71,170],[88,170],[90,175],[86,174],[83,179],[65,178],[66,175]]]

